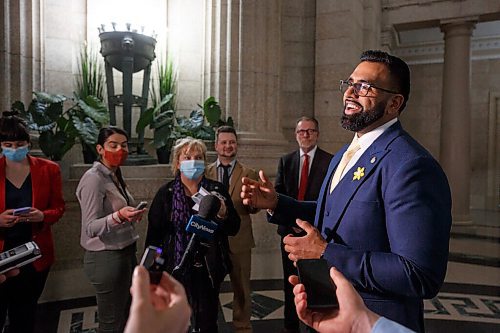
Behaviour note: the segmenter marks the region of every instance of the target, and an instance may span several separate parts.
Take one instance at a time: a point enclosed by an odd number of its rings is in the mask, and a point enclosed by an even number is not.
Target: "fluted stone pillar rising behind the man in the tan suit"
[[[204,97],[235,122],[239,158],[276,172],[286,141],[280,121],[281,1],[208,1]]]

